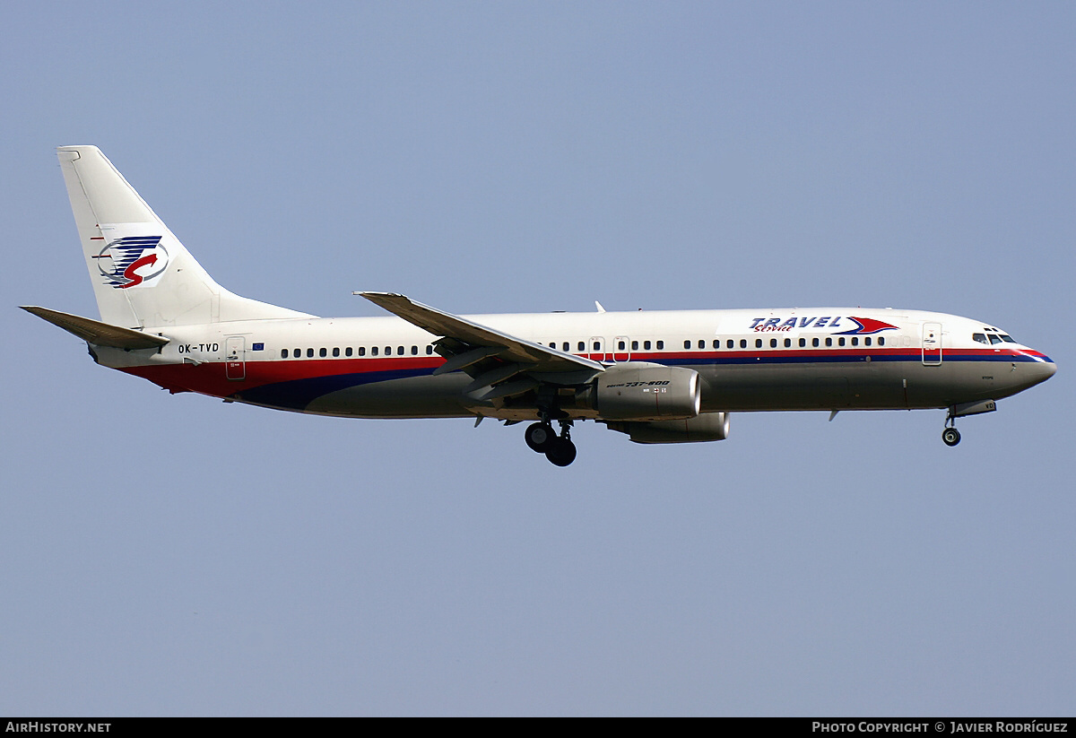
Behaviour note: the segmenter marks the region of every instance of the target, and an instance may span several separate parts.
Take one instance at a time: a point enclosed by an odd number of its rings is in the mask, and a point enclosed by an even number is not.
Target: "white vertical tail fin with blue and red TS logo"
[[[213,281],[97,146],[57,150],[101,321],[145,328],[306,317]]]

